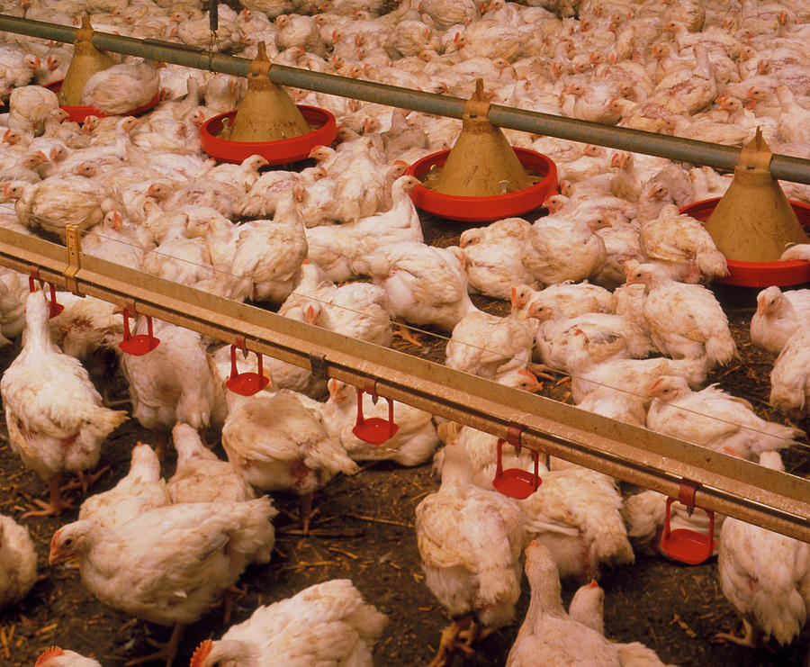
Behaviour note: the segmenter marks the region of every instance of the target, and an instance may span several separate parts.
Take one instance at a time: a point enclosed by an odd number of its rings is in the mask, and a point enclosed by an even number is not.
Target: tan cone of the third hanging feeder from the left
[[[481,197],[532,185],[503,132],[487,120],[489,108],[483,81],[478,79],[464,107],[461,134],[433,188],[437,193]]]

